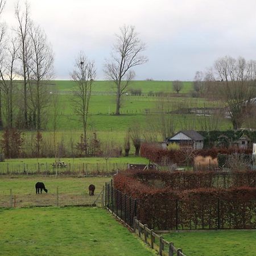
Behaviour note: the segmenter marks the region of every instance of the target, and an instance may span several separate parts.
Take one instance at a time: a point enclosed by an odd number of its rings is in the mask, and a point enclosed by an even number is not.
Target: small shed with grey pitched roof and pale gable
[[[174,136],[164,141],[166,145],[170,143],[179,144],[180,147],[191,147],[193,149],[202,149],[204,147],[204,137],[197,131],[179,131]]]

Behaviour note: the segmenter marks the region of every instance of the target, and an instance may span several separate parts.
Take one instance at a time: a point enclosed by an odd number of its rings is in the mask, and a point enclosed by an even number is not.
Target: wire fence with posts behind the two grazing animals
[[[51,163],[1,163],[0,175],[5,174],[115,174],[126,170],[126,163],[68,163],[66,167],[53,167]]]

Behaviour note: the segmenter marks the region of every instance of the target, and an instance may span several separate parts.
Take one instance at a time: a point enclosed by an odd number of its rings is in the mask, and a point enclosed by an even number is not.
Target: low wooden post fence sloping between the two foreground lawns
[[[149,229],[146,224],[142,224],[137,217],[134,217],[134,232],[152,249],[158,251],[163,256],[185,256],[181,249],[176,249],[173,242],[167,242],[162,236],[156,234],[153,229]]]

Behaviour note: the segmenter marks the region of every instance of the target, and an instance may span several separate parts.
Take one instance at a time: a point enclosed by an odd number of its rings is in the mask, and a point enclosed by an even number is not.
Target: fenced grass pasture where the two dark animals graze
[[[0,178],[0,207],[10,206],[10,189],[12,193],[11,205],[27,207],[32,205],[101,205],[101,196],[105,182],[110,177],[52,177],[52,176],[2,176]],[[35,184],[42,181],[48,193],[36,195]],[[89,196],[88,187],[94,184],[94,196]],[[58,188],[58,192],[57,192]],[[58,195],[57,195],[58,193]],[[15,199],[14,199],[15,196]],[[57,198],[58,196],[58,198]]]

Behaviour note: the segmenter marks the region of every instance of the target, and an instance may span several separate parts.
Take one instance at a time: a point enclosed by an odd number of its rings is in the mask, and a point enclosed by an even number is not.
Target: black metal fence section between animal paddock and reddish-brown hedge
[[[105,207],[133,228],[137,216],[137,200],[113,187],[113,181],[105,184]]]

